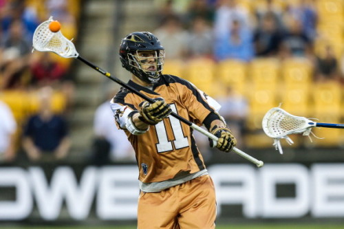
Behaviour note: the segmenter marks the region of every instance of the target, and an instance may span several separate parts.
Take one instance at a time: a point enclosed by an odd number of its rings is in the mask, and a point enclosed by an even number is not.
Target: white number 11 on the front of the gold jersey
[[[177,113],[177,109],[174,104],[171,104],[171,109],[173,112]],[[169,116],[169,120],[171,122],[171,127],[175,140],[169,141],[169,139],[167,138],[167,131],[164,122],[159,122],[158,124],[156,124],[155,130],[158,135],[159,141],[158,144],[156,144],[158,148],[158,153],[172,151],[172,144],[174,144],[175,149],[182,149],[189,146],[189,140],[187,137],[184,137],[182,124],[180,123],[180,120],[172,116]]]

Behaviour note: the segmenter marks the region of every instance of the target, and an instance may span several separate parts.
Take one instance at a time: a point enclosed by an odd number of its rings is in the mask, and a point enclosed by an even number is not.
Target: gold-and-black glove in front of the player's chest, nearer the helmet
[[[155,125],[161,122],[162,119],[169,116],[172,112],[171,106],[165,102],[163,98],[155,98],[154,102],[150,104],[144,101],[140,107],[140,120],[144,123]]]

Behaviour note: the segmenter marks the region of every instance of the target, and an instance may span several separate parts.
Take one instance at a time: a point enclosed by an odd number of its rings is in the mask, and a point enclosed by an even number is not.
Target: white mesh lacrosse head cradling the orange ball
[[[49,29],[52,17],[41,23],[34,31],[32,44],[34,50],[39,52],[54,52],[64,58],[76,58],[79,56],[72,41],[63,36],[61,31],[52,32]],[[32,50],[32,52],[34,51]]]

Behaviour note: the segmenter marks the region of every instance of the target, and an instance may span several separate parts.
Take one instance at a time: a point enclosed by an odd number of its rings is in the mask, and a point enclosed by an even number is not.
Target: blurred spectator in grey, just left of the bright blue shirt
[[[188,58],[213,57],[213,31],[203,17],[195,17],[186,42]]]

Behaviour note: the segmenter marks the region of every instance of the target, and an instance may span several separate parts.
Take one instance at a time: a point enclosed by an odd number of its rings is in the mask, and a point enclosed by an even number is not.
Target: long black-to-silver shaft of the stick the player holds
[[[122,80],[120,80],[119,78],[113,77],[111,76],[111,74],[103,69],[101,69],[100,67],[94,65],[93,63],[90,63],[89,61],[85,60],[85,58],[82,58],[81,56],[76,57],[79,61],[82,61],[83,63],[85,63],[86,65],[88,65],[89,67],[92,67],[93,69],[95,69],[97,72],[100,72],[101,74],[103,74],[104,76],[107,76],[108,78],[110,78],[111,80],[113,80],[114,82],[118,83],[119,85],[121,85],[122,87],[125,87],[126,89],[128,89],[129,91],[133,92],[133,94],[136,94],[137,96],[140,96],[141,98],[143,98],[144,100],[147,100],[148,102],[153,103],[154,100],[149,98],[148,96],[145,96],[144,94],[140,93],[140,91],[136,90],[135,88],[131,87],[130,85],[127,85],[126,83],[124,83]],[[179,116],[177,113],[172,112],[171,116],[173,116],[174,118],[177,118],[178,120],[180,120],[181,122],[184,122],[185,124],[187,124],[189,127],[195,129],[196,131],[199,131],[200,133],[206,135],[208,138],[211,138],[212,140],[219,140],[215,135],[209,133],[208,131],[202,129],[201,127],[198,127],[196,124],[194,124],[193,122],[190,122],[189,120],[186,120],[185,118]],[[250,155],[248,155],[247,153],[244,153],[244,151],[241,151],[239,149],[237,149],[236,147],[233,148],[233,151],[235,153],[237,153],[238,155],[240,155],[241,157],[244,157],[246,160],[249,160],[250,162],[252,162],[253,164],[256,164],[258,167],[261,167],[264,165],[264,162],[257,160],[255,157],[252,157]]]

